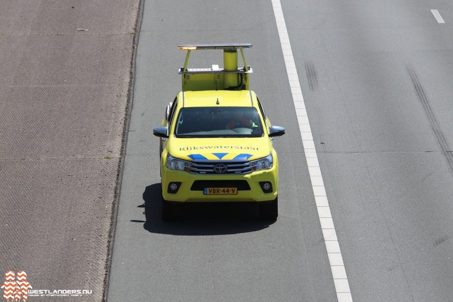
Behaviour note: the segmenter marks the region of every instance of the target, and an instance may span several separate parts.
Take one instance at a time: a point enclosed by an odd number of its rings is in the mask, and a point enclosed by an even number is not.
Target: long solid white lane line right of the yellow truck
[[[332,220],[332,215],[330,213],[329,201],[327,200],[326,189],[324,187],[324,181],[321,175],[321,169],[319,168],[315,142],[313,141],[310,122],[307,116],[307,111],[305,110],[304,97],[300,89],[299,78],[297,76],[297,70],[294,64],[294,57],[292,55],[288,31],[286,30],[283,11],[281,10],[280,0],[271,1],[272,7],[274,9],[278,35],[280,37],[281,50],[283,52],[283,58],[285,60],[289,87],[291,89],[294,108],[296,110],[300,136],[302,137],[307,166],[310,173],[310,179],[312,181],[313,195],[315,196],[319,221],[321,223],[321,229],[324,236],[324,243],[326,245],[327,256],[329,257],[332,277],[335,284],[335,290],[337,292],[337,298],[339,302],[352,302],[351,290],[349,288],[346,270],[344,269],[343,257],[341,256],[337,233],[335,232],[335,226]]]

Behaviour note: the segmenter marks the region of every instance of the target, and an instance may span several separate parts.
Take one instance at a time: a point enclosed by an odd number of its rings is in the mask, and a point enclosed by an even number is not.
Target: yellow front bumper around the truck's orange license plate
[[[269,201],[277,197],[277,163],[269,170],[245,175],[200,175],[185,171],[161,168],[162,196],[167,201],[177,202],[250,202]],[[177,193],[169,193],[171,182],[181,183]],[[264,193],[260,182],[270,182],[272,191]],[[203,187],[238,187],[237,195],[204,195]]]

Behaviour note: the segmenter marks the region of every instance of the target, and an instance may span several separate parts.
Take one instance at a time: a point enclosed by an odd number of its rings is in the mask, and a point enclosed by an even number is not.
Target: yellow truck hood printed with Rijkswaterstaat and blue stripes
[[[272,151],[272,143],[267,137],[171,137],[168,141],[168,151],[171,156],[186,161],[252,161],[268,156]]]

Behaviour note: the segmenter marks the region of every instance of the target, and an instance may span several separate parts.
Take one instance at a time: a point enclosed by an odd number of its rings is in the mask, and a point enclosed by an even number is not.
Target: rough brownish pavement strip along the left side
[[[102,300],[137,7],[0,1],[0,274],[92,291],[29,301]]]

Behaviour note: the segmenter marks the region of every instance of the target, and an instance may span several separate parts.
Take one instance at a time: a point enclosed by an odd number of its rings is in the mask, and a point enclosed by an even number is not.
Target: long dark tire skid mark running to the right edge
[[[434,114],[434,111],[432,110],[429,98],[425,92],[425,89],[420,83],[420,79],[414,66],[412,66],[411,64],[406,64],[406,71],[411,78],[412,86],[414,87],[418,100],[422,105],[425,116],[428,119],[429,126],[434,133],[434,137],[436,138],[436,141],[439,144],[440,149],[442,150],[442,155],[447,162],[448,170],[453,176],[453,152],[451,146],[446,140],[445,134],[443,134],[442,129],[440,128],[439,122]]]

